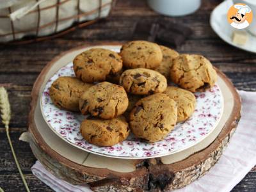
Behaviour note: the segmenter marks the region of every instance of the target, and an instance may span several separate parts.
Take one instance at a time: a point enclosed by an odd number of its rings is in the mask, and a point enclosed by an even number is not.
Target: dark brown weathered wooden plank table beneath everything
[[[11,137],[20,165],[31,191],[52,191],[31,173],[36,159],[28,143],[19,141],[27,131],[30,92],[33,83],[49,61],[63,51],[86,42],[109,42],[132,40],[134,25],[139,20],[153,21],[166,18],[187,24],[193,29],[185,44],[177,47],[179,52],[203,54],[232,79],[239,90],[256,90],[256,54],[241,51],[223,42],[212,31],[209,16],[221,1],[204,1],[199,11],[186,17],[169,18],[152,12],[146,1],[121,1],[116,3],[111,15],[92,26],[68,35],[28,45],[0,47],[0,86],[7,88],[12,105]],[[0,124],[0,187],[4,191],[24,191],[22,180],[13,161],[3,124]],[[211,189],[209,189],[211,191]],[[256,191],[256,167],[232,191]]]

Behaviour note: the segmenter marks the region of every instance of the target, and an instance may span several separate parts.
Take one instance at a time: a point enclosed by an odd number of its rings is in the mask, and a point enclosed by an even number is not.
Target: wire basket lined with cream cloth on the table
[[[64,35],[107,17],[115,3],[112,0],[7,1],[0,3],[2,44],[26,44]]]

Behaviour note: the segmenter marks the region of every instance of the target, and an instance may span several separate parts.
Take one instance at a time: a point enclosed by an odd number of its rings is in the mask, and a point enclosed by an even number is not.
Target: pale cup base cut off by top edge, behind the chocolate
[[[148,5],[163,15],[182,16],[198,10],[201,0],[148,0]]]

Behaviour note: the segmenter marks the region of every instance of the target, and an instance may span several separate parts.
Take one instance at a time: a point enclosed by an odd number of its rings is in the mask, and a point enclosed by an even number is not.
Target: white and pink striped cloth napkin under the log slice
[[[230,191],[255,166],[256,92],[239,91],[239,93],[243,105],[241,120],[220,160],[202,178],[185,188],[175,191]],[[75,186],[54,177],[38,161],[32,166],[31,170],[38,179],[42,180],[47,186],[54,189],[54,191],[91,191],[88,186]]]

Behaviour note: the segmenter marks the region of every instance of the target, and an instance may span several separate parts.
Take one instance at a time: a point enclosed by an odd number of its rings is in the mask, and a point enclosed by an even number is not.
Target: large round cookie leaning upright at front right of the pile
[[[130,114],[130,128],[137,138],[148,142],[163,140],[177,122],[177,104],[166,94],[140,99]]]

